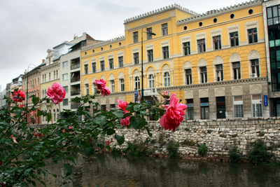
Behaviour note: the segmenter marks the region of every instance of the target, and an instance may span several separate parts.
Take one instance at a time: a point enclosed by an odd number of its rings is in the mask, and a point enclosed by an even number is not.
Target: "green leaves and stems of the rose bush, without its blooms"
[[[152,137],[146,120],[142,118],[143,115],[148,116],[149,113],[141,113],[136,116],[132,116],[132,113],[153,109],[157,115],[160,115],[162,110],[158,106],[152,106],[146,102],[130,103],[127,105],[128,113],[100,109],[94,111],[92,115],[86,109],[89,109],[88,104],[99,106],[98,103],[92,102],[94,97],[95,95],[86,95],[71,99],[71,102],[80,103],[80,107],[76,111],[65,110],[62,112],[62,116],[66,114],[67,118],[59,119],[57,123],[38,129],[27,125],[26,113],[35,111],[42,102],[50,103],[50,98],[39,99],[31,96],[34,104],[31,109],[20,108],[16,104],[7,109],[1,108],[0,161],[3,165],[0,166],[0,183],[5,181],[8,186],[35,186],[34,181],[40,181],[45,185],[42,176],[46,172],[49,173],[48,169],[45,169],[49,159],[55,163],[69,160],[76,165],[75,159],[71,155],[78,153],[78,151],[92,157],[97,147],[109,149],[111,141],[104,142],[103,140],[106,136],[114,137],[119,145],[123,144],[125,136],[116,134],[116,129],[122,127],[120,120],[127,116],[130,116],[131,123],[127,125],[128,128],[146,129],[148,135]],[[7,103],[12,104],[13,100],[8,98]],[[52,120],[52,115],[47,111],[38,111],[37,116],[45,117],[48,121]],[[81,116],[84,118],[82,119]],[[152,153],[151,150],[147,149],[149,142],[150,139],[146,139],[145,144],[139,145],[132,145],[129,142],[129,148],[123,152],[131,151],[136,155],[149,155]],[[120,150],[113,149],[112,152],[120,153]],[[62,183],[64,183],[73,174],[73,169],[66,162],[64,170],[65,176],[56,176],[55,174],[52,176],[61,177]]]

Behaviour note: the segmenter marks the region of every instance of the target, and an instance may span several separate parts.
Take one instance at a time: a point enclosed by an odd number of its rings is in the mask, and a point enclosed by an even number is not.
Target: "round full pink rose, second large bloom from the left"
[[[60,85],[60,83],[53,83],[52,88],[48,88],[46,95],[52,98],[52,102],[58,104],[59,102],[62,102],[62,99],[64,99],[66,92],[62,88],[62,85]]]

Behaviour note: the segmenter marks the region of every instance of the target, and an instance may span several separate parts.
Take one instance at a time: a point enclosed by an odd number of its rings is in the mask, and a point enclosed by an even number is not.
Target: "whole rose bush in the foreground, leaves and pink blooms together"
[[[2,108],[0,112],[0,183],[6,183],[6,186],[36,186],[36,181],[42,180],[48,169],[45,169],[46,160],[59,162],[60,160],[69,160],[73,165],[76,165],[73,153],[84,153],[90,157],[95,154],[95,146],[103,150],[111,150],[109,142],[102,143],[102,137],[114,137],[119,145],[125,142],[125,137],[116,134],[118,128],[127,127],[135,130],[146,130],[148,135],[152,137],[146,119],[143,116],[150,116],[153,111],[155,119],[162,116],[163,111],[167,113],[160,119],[160,124],[165,127],[165,130],[175,130],[182,121],[183,110],[186,109],[183,104],[178,104],[178,99],[172,95],[170,105],[161,104],[152,105],[147,102],[141,104],[127,104],[118,100],[117,111],[106,111],[97,102],[92,102],[98,93],[103,97],[110,94],[104,80],[94,81],[97,84],[98,91],[94,95],[86,95],[84,97],[76,97],[71,99],[71,102],[80,103],[80,107],[76,111],[62,111],[61,116],[67,114],[67,118],[60,118],[57,123],[45,125],[38,128],[27,124],[26,113],[31,113],[38,109],[42,102],[54,102],[58,104],[65,97],[65,90],[59,83],[54,83],[52,88],[48,89],[48,97],[39,99],[36,96],[31,96],[33,106],[31,109],[21,108],[19,106],[10,106],[8,109]],[[23,98],[23,97],[22,97]],[[7,99],[8,104],[15,102],[13,99]],[[17,98],[15,98],[17,99]],[[165,104],[168,101],[165,100]],[[89,112],[90,106],[97,106],[97,110],[93,113]],[[144,113],[139,114],[140,111]],[[13,115],[10,115],[13,113]],[[47,111],[38,110],[37,116],[46,118],[48,122],[52,115]],[[83,118],[81,118],[83,116]],[[173,125],[175,123],[175,125]],[[36,127],[36,129],[34,128]],[[175,129],[174,129],[175,128]],[[93,141],[99,143],[92,144]],[[112,140],[110,141],[110,143]],[[69,162],[65,162],[65,176],[54,177],[62,178],[64,182],[71,179],[73,169]],[[2,185],[3,185],[2,184]]]

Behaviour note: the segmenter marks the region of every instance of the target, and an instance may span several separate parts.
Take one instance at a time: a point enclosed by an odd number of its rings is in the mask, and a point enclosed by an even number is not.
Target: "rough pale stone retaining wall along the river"
[[[186,120],[181,123],[176,132],[163,130],[159,123],[149,123],[153,137],[148,148],[155,155],[168,155],[167,144],[170,140],[179,144],[179,155],[187,158],[199,157],[198,144],[206,143],[208,158],[228,158],[229,151],[237,147],[242,156],[246,158],[251,151],[252,144],[257,139],[262,139],[269,151],[274,153],[276,160],[280,160],[280,118],[248,118],[228,120]],[[143,143],[148,137],[146,130],[123,128],[117,134],[125,135],[125,141]],[[147,142],[147,141],[146,141]],[[151,144],[153,143],[153,144]],[[127,144],[116,148],[127,148]]]

